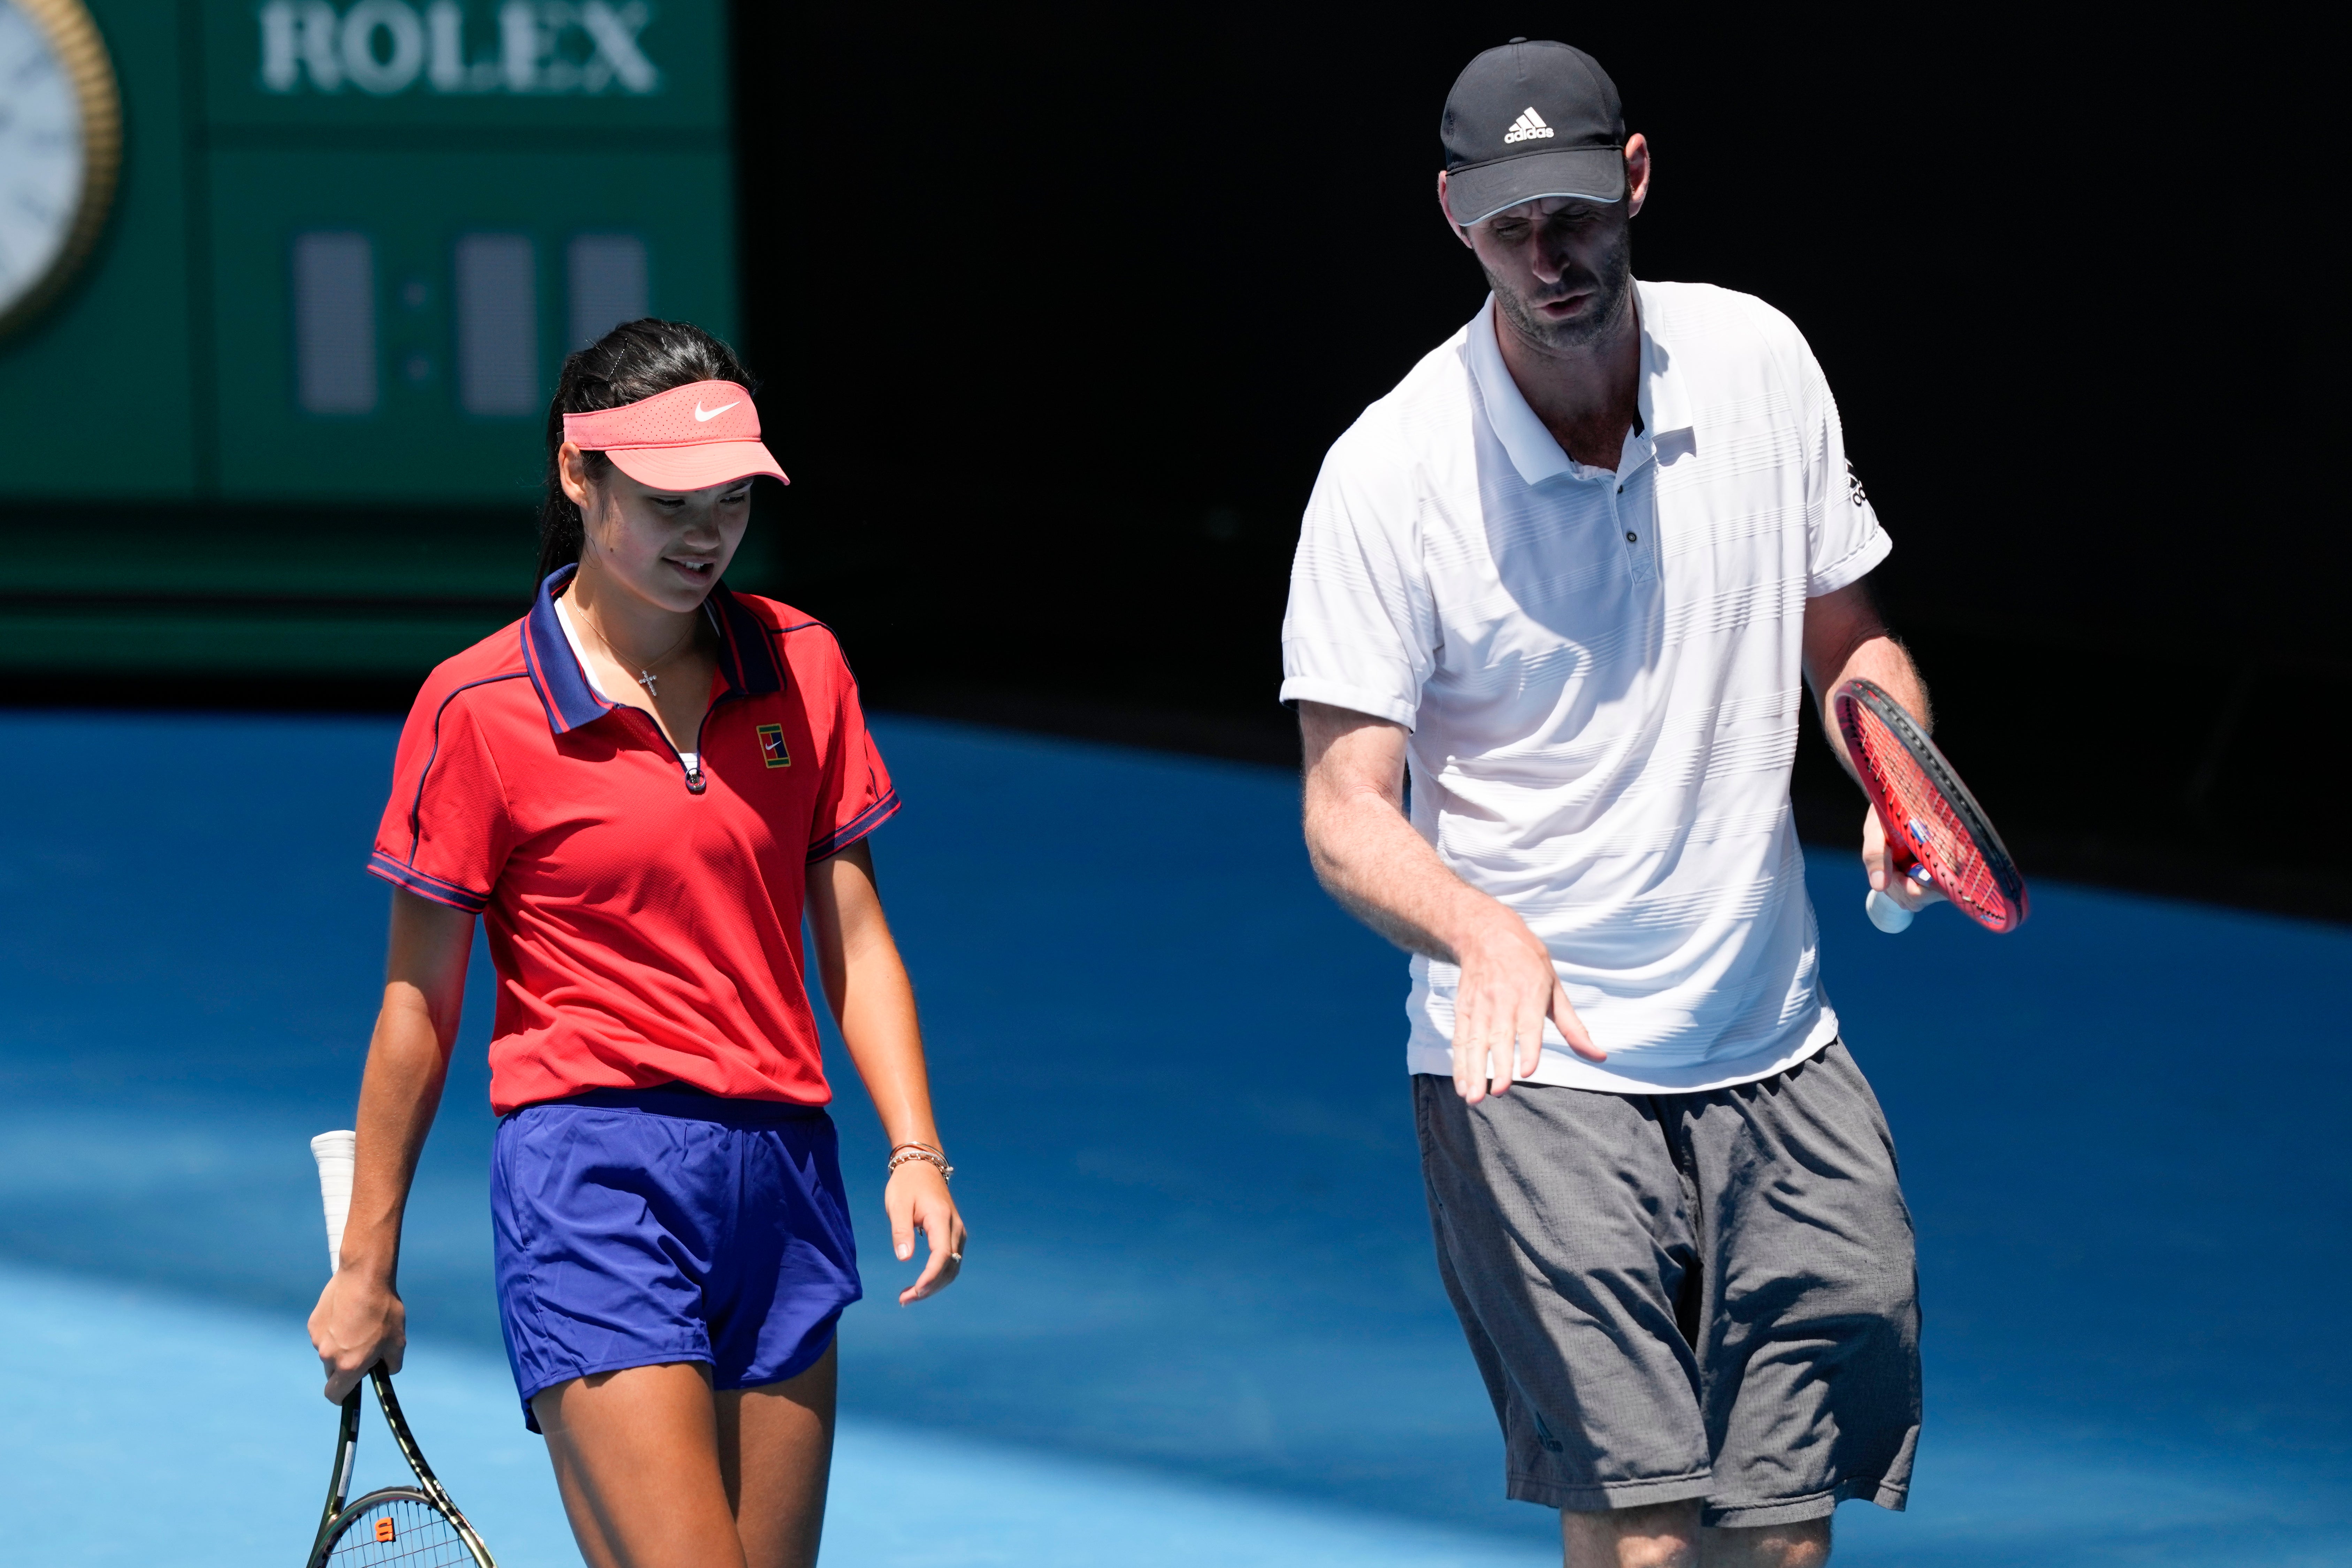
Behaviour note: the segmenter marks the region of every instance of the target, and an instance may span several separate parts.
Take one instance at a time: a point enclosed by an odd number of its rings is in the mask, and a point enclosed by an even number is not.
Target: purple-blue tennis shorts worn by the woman
[[[858,1300],[833,1117],[699,1088],[595,1088],[499,1121],[499,1319],[522,1396],[701,1361],[715,1389],[809,1371]]]

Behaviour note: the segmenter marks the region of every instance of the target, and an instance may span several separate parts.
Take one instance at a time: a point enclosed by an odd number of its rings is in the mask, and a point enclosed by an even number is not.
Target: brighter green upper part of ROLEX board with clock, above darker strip
[[[722,0],[0,0],[0,505],[527,510],[564,355],[736,329],[724,45]],[[125,362],[139,442],[80,416]]]

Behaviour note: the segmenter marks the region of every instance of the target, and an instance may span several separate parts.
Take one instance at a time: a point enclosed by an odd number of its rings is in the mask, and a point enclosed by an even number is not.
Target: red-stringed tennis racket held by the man
[[[1903,703],[1863,677],[1842,682],[1830,708],[1886,830],[1893,867],[1938,889],[1985,931],[2016,931],[2025,919],[2025,877],[1926,731]],[[1910,910],[1877,889],[1863,907],[1879,931],[1903,931],[1912,922]]]

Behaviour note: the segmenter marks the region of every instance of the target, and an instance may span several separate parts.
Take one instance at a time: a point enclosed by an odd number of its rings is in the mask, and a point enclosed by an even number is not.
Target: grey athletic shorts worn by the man
[[[1708,1526],[1900,1509],[1919,1272],[1896,1147],[1842,1044],[1708,1093],[1414,1077],[1437,1272],[1508,1490],[1703,1500]]]

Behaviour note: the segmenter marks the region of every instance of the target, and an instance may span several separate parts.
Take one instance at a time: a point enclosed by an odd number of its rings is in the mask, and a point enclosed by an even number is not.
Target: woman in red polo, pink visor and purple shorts
[[[400,1368],[400,1215],[475,914],[499,971],[499,1307],[595,1568],[804,1568],[858,1300],[800,929],[891,1138],[891,1246],[964,1225],[866,844],[898,809],[842,651],[722,583],[783,480],[746,374],[680,322],[564,362],[532,611],[416,696],[369,867],[395,886],[343,1267],[310,1314],[341,1399]]]

